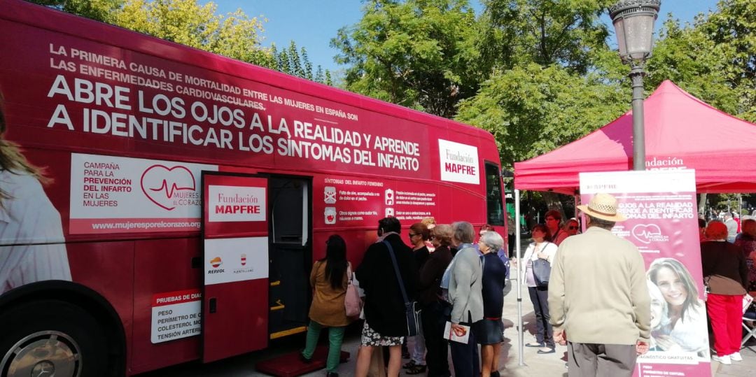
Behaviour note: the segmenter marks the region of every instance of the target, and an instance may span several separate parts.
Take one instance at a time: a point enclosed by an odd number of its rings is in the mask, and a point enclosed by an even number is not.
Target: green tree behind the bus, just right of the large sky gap
[[[466,0],[369,0],[331,46],[345,87],[438,116],[454,116],[485,76],[476,69],[476,17]]]

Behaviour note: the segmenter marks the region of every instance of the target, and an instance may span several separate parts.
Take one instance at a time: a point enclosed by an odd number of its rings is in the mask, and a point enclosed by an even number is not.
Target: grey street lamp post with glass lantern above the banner
[[[617,33],[619,56],[630,64],[633,83],[633,170],[646,170],[646,136],[643,131],[643,66],[651,56],[654,21],[662,0],[620,0],[609,8]]]

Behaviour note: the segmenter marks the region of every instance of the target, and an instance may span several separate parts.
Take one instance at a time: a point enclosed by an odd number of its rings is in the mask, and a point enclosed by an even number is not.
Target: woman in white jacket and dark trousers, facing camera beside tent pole
[[[550,242],[548,232],[545,225],[536,224],[531,229],[533,242],[525,250],[522,258],[522,262],[525,263],[525,268],[522,269],[522,282],[528,286],[530,301],[533,303],[535,312],[535,342],[525,346],[540,348],[538,354],[553,354],[556,348],[551,323],[549,323],[549,277],[547,273],[542,273],[545,276],[538,275],[541,272],[538,264],[544,264],[545,261],[550,265],[556,255],[556,244]]]

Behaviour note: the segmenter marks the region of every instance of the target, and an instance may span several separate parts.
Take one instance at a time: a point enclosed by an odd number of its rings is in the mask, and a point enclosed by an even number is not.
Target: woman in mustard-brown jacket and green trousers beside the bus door
[[[307,340],[302,351],[302,361],[309,363],[321,329],[328,327],[328,358],[326,360],[327,377],[338,377],[336,370],[341,357],[341,344],[344,329],[351,322],[346,317],[344,299],[351,270],[346,261],[346,243],[341,236],[333,234],[326,241],[326,257],[316,261],[310,273],[310,286],[314,292],[310,306],[310,324],[307,327]]]

